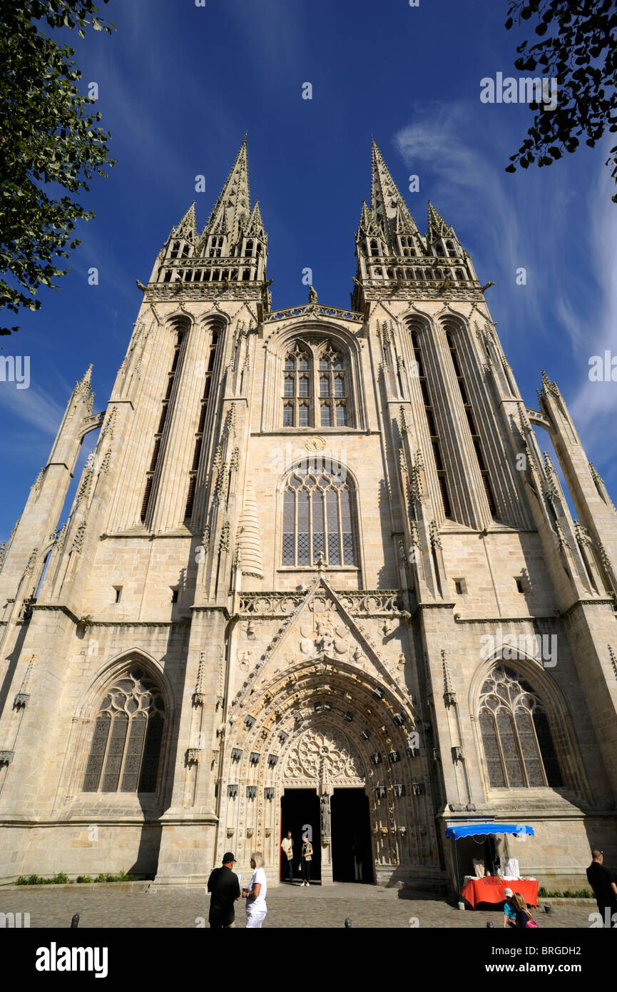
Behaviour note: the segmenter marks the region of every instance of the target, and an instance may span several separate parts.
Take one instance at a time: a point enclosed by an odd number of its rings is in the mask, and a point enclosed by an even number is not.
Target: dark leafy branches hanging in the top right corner
[[[507,173],[538,160],[551,166],[563,152],[575,152],[579,138],[586,136],[591,148],[605,131],[617,131],[617,4],[615,0],[510,0],[506,28],[515,23],[535,24],[540,39],[517,47],[515,65],[557,80],[555,110],[532,103],[536,111],[528,138]],[[617,178],[617,145],[610,150],[607,165]],[[617,195],[613,196],[617,202]]]

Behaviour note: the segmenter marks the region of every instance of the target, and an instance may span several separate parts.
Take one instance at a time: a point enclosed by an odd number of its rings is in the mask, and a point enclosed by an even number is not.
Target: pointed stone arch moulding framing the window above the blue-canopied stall
[[[506,636],[509,635],[504,635],[504,637]],[[511,636],[518,638],[519,635],[517,633]],[[548,674],[542,662],[539,662],[533,655],[522,648],[515,649],[508,646],[508,654],[513,654],[514,657],[504,658],[503,650],[499,649],[495,651],[490,658],[480,662],[469,683],[469,712],[472,717],[471,722],[475,736],[476,753],[484,781],[485,792],[488,793],[495,787],[491,787],[489,783],[486,754],[480,732],[480,697],[482,686],[491,674],[497,669],[506,668],[514,672],[519,678],[529,682],[531,688],[542,702],[547,716],[553,746],[555,747],[555,753],[558,756],[558,766],[562,777],[562,787],[560,788],[571,790],[572,793],[584,798],[587,802],[591,802],[591,796],[586,786],[586,778],[576,744],[576,735],[571,716],[561,689]]]

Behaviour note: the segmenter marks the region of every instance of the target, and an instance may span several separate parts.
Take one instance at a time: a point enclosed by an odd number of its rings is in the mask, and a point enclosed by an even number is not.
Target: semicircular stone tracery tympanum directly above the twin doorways
[[[307,730],[291,748],[285,779],[350,783],[365,777],[362,759],[349,739],[333,726]]]

